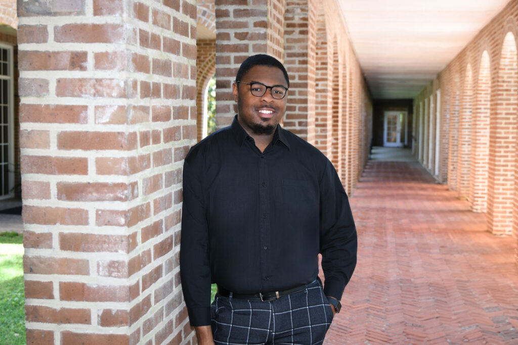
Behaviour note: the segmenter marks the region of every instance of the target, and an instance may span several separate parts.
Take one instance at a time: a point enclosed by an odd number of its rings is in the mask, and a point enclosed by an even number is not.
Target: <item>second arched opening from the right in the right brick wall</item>
[[[491,70],[487,51],[482,53],[477,83],[476,108],[471,130],[471,176],[469,200],[473,212],[485,212],[487,204],[487,167],[489,159],[489,121]]]

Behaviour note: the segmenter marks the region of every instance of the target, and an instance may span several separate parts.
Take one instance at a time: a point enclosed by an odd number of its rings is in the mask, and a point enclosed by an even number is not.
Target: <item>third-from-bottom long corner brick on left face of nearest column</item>
[[[126,235],[98,235],[60,232],[60,249],[88,252],[129,252],[130,238]]]

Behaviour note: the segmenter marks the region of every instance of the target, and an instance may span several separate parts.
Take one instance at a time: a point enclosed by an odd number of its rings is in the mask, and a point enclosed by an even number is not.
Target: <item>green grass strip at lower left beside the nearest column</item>
[[[0,343],[25,344],[23,237],[0,233]]]

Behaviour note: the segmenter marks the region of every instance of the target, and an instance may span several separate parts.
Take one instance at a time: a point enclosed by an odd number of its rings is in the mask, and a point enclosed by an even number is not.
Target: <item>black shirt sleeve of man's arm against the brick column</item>
[[[191,326],[210,325],[209,236],[204,191],[199,172],[203,164],[183,164],[183,205],[180,277]],[[195,168],[196,167],[196,168]]]

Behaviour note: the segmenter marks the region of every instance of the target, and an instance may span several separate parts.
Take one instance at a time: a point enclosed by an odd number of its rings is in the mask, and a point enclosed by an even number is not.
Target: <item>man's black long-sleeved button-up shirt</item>
[[[356,229],[333,164],[280,126],[261,152],[234,118],[183,166],[180,274],[192,326],[210,325],[210,284],[234,293],[312,282],[340,299],[356,265]]]

